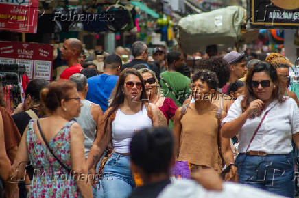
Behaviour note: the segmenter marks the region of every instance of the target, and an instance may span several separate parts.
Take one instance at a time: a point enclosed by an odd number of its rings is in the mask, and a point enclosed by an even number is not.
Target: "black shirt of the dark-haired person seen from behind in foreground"
[[[158,195],[162,192],[162,190],[170,184],[170,180],[162,180],[160,182],[154,182],[150,184],[146,184],[144,186],[140,186],[132,190],[132,194],[130,198],[137,197],[146,197],[146,198],[154,198],[158,197]]]

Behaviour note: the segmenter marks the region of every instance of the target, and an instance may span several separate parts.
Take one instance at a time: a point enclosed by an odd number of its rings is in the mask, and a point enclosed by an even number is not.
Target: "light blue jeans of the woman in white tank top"
[[[128,197],[135,187],[130,156],[112,153],[104,168],[102,184],[105,198]]]

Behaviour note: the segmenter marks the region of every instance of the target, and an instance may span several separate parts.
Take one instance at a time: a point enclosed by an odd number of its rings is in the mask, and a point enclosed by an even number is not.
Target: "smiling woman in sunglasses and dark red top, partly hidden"
[[[174,103],[174,100],[163,97],[160,92],[160,85],[155,72],[147,68],[140,69],[139,72],[143,77],[146,96],[150,100],[150,103],[156,104],[156,106],[159,107],[160,111],[163,112],[167,119],[167,124],[169,124],[169,119],[174,122],[174,114],[178,107],[176,106],[176,103]]]

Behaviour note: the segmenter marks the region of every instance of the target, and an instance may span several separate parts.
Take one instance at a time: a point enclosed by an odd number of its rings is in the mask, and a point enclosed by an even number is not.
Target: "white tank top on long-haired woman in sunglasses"
[[[112,122],[112,143],[115,152],[130,153],[130,142],[134,132],[150,127],[152,127],[152,119],[147,116],[144,105],[139,112],[133,115],[126,115],[117,109]]]

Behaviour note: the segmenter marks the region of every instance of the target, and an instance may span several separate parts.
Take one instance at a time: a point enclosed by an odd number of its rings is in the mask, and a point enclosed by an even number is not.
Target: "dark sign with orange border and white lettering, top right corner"
[[[298,0],[248,0],[252,28],[298,29]]]

